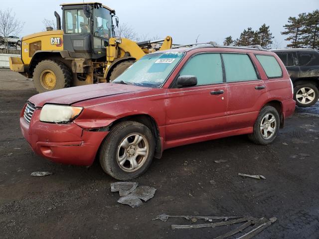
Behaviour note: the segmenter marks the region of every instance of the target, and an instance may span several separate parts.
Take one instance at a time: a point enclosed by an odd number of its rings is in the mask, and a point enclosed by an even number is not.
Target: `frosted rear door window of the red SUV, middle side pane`
[[[258,80],[253,63],[247,54],[222,53],[222,56],[227,82]]]

